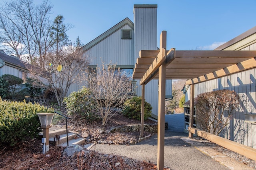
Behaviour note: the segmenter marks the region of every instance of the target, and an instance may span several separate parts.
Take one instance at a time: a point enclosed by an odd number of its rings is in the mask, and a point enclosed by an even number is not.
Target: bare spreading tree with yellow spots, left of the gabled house
[[[71,84],[82,80],[88,67],[88,59],[82,49],[71,44],[59,49],[58,55],[56,51],[51,51],[47,53],[42,63],[35,63],[38,65],[27,64],[31,76],[44,82],[37,84],[38,86],[54,92],[60,106],[63,105]]]

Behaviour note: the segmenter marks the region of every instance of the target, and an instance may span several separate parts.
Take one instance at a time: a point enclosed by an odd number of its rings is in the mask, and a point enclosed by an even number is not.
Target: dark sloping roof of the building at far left
[[[21,68],[26,69],[25,64],[23,61],[18,59],[18,57],[7,55],[4,53],[4,51],[0,51],[0,59],[2,59],[6,64],[14,65],[14,66],[19,66]]]

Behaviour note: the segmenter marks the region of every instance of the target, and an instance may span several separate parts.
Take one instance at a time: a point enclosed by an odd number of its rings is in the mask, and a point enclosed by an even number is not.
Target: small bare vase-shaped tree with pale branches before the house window
[[[88,86],[95,102],[96,114],[102,118],[102,125],[120,113],[124,102],[131,95],[131,80],[121,73],[115,64],[102,62],[95,70],[89,69]]]

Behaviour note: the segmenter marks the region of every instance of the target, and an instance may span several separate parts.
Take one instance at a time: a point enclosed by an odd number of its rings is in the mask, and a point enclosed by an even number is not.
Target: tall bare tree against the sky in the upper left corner
[[[10,45],[11,53],[42,58],[50,48],[49,15],[52,5],[48,0],[34,5],[33,0],[12,0],[0,7],[0,42]]]

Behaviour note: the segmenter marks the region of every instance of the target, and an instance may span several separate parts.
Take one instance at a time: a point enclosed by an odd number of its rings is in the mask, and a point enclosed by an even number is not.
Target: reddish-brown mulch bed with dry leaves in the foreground
[[[125,156],[116,156],[90,151],[74,159],[63,158],[63,147],[50,147],[42,154],[39,139],[19,143],[0,152],[0,170],[156,170],[155,164],[138,161]],[[166,168],[168,169],[168,168]]]

